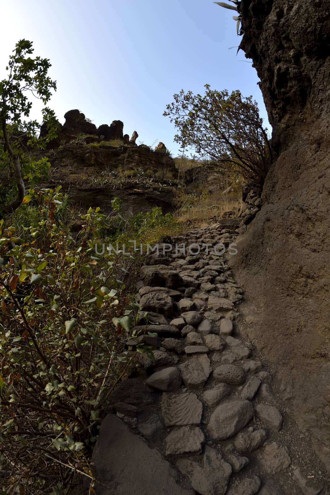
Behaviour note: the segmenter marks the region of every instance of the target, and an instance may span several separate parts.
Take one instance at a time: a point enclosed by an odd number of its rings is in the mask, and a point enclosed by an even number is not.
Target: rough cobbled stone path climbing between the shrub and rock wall
[[[113,394],[93,454],[96,494],[330,494],[267,363],[241,335],[243,291],[228,254],[237,231],[228,223],[172,240],[199,254],[152,254],[141,269],[136,300],[156,335],[140,340],[156,350],[154,360],[139,355]],[[214,252],[219,243],[224,255]],[[136,342],[127,346],[134,352]]]

